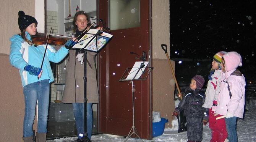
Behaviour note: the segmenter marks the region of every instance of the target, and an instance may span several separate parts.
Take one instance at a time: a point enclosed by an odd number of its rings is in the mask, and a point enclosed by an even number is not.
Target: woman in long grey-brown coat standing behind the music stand
[[[83,37],[81,33],[91,25],[89,16],[84,11],[78,11],[73,20],[73,32],[78,40]],[[102,30],[102,27],[97,29]],[[85,34],[86,32],[84,32]],[[83,61],[84,53],[80,53],[79,50],[70,50],[68,62],[66,63],[66,80],[65,90],[63,94],[63,103],[72,103],[74,109],[74,117],[76,121],[76,129],[78,133],[78,139],[76,142],[84,141],[84,64],[86,64],[86,77],[87,77],[87,134],[91,139],[92,134],[92,103],[99,103],[99,92],[97,85],[97,70],[95,57],[96,53],[88,52],[86,55],[86,61]],[[76,60],[78,58],[78,60]],[[81,62],[81,63],[79,63]],[[85,63],[83,63],[85,62]]]

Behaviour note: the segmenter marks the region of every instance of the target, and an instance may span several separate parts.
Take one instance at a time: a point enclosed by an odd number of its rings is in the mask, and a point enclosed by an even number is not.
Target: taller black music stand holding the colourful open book
[[[112,39],[112,35],[109,33],[105,33],[97,29],[90,29],[81,39],[79,39],[78,43],[76,43],[73,47],[68,48],[73,50],[80,50],[80,52],[84,53],[84,142],[91,142],[87,134],[87,51],[95,52],[97,54],[101,49],[103,49],[103,47],[107,45],[107,43],[109,43],[110,39]],[[98,40],[100,41],[98,42]]]

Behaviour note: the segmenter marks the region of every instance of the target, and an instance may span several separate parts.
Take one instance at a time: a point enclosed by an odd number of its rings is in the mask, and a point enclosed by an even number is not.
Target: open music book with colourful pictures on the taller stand
[[[104,47],[112,38],[113,35],[102,32],[97,34],[99,30],[90,29],[72,48],[74,49],[85,49],[91,52],[98,52]],[[97,42],[96,42],[97,41]]]

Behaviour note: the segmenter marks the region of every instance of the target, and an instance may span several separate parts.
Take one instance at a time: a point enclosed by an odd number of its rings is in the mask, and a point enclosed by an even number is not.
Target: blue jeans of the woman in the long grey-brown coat
[[[79,137],[79,134],[84,133],[84,104],[83,103],[73,103],[73,109],[74,109],[74,117],[76,121],[76,130],[77,135]],[[86,106],[87,109],[87,134],[88,138],[91,139],[92,137],[92,103],[87,103]]]

